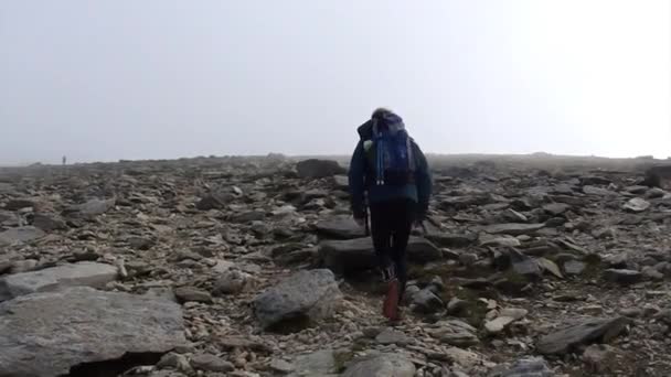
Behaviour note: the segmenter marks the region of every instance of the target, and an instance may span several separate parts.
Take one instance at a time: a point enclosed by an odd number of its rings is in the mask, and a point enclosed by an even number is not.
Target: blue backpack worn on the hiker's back
[[[415,182],[413,140],[395,115],[374,119],[366,150],[374,185],[402,186]]]

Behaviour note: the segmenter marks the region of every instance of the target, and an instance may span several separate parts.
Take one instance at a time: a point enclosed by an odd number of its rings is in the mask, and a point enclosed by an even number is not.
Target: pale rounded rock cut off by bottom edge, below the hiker
[[[413,377],[415,365],[398,354],[376,354],[354,360],[342,377]]]

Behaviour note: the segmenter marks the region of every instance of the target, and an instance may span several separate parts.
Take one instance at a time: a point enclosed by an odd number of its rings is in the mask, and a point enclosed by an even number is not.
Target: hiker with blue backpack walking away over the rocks
[[[373,247],[388,282],[383,313],[398,320],[397,303],[407,281],[405,249],[413,225],[426,217],[430,173],[424,153],[393,111],[376,109],[358,132],[361,140],[349,172],[352,212],[368,229],[370,208]]]

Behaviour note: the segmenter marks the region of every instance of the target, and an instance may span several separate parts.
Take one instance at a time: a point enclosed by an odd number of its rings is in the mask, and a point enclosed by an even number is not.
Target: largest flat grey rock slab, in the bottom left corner
[[[56,377],[78,364],[185,343],[177,303],[87,287],[0,303],[0,376]]]

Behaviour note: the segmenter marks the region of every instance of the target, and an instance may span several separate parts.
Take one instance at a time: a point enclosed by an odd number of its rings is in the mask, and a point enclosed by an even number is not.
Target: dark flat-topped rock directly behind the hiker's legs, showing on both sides
[[[443,252],[425,238],[411,237],[407,258],[411,262],[427,263],[443,259]],[[336,273],[360,272],[377,267],[370,237],[322,241],[319,246],[319,259],[322,267]]]

